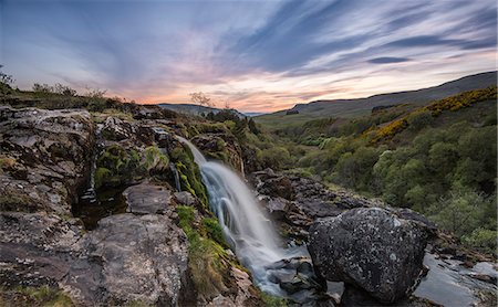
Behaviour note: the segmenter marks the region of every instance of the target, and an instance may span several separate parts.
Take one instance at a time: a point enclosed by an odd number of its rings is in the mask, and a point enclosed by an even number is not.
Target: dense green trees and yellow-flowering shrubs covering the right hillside
[[[469,95],[473,100],[464,102]],[[496,102],[487,100],[492,95],[496,88],[464,93],[380,126],[376,117],[387,119],[388,112],[334,121],[329,131],[294,138],[320,145],[304,155],[292,151],[291,160],[325,181],[419,211],[467,242],[486,241],[489,232],[473,232],[496,231],[497,127],[489,116]]]

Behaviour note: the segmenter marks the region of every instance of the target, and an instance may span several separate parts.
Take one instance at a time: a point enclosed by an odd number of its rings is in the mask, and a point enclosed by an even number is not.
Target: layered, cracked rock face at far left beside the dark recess
[[[0,210],[69,215],[89,174],[90,113],[0,106]]]

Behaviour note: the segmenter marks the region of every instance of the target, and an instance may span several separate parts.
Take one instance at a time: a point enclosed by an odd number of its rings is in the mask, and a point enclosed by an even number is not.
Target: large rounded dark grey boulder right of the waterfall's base
[[[422,272],[427,232],[384,209],[360,208],[317,221],[309,251],[324,278],[393,303],[409,295]]]

